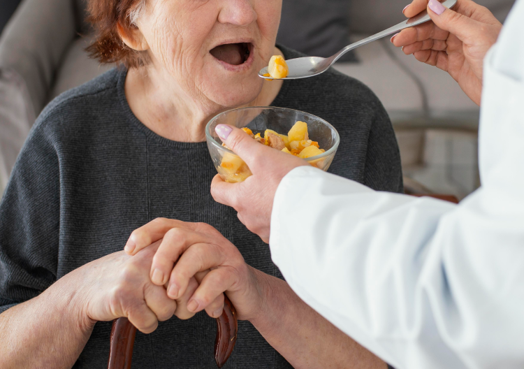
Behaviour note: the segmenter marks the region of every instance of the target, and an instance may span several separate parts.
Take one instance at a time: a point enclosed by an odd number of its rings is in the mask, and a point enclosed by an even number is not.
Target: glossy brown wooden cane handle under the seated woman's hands
[[[221,368],[228,360],[237,341],[238,323],[235,307],[224,296],[224,311],[217,318],[217,338],[214,340],[214,361]],[[136,328],[127,318],[112,321],[108,369],[131,369]]]

